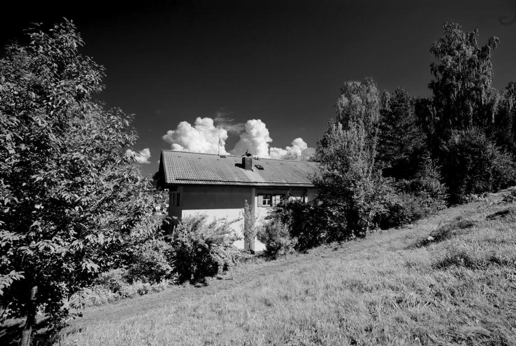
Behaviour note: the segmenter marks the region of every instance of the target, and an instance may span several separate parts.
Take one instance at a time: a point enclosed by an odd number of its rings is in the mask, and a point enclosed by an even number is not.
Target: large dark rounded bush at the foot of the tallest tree
[[[512,155],[495,146],[480,129],[455,131],[443,146],[443,176],[449,202],[469,194],[495,192],[516,181]]]

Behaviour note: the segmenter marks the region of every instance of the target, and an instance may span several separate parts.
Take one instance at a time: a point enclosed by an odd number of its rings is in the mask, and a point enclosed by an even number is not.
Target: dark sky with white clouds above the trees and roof
[[[478,28],[480,44],[497,36],[494,86],[516,81],[516,0],[107,3],[18,2],[0,45],[31,22],[73,20],[82,53],[106,68],[98,99],[135,114],[145,174],[160,150],[216,152],[219,137],[222,153],[309,155],[346,81],[430,96],[429,48],[446,21]]]

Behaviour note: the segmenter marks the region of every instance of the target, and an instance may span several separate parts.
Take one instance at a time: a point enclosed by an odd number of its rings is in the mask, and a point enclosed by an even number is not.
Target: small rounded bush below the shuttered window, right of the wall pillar
[[[291,238],[288,227],[276,217],[264,222],[257,236],[265,244],[265,254],[273,258],[294,253],[297,245],[297,238]]]

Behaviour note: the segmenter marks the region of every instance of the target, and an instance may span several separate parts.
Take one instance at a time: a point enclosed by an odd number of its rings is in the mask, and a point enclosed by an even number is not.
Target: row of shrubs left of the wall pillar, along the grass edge
[[[220,274],[246,256],[233,246],[235,237],[226,221],[208,222],[204,214],[187,216],[171,234],[126,244],[118,256],[123,259],[120,267],[101,274],[92,287],[74,294],[68,304],[102,305]]]

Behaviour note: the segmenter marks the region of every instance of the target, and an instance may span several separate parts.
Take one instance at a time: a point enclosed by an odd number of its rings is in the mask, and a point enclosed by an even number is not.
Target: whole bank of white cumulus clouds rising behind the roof
[[[198,117],[190,125],[187,121],[179,123],[175,130],[169,130],[163,139],[171,145],[172,150],[202,153],[217,153],[220,125],[220,153],[228,154],[225,141],[228,133],[238,134],[239,140],[230,150],[233,155],[249,152],[253,156],[271,159],[306,160],[315,153],[302,138],[296,138],[286,148],[269,147],[272,138],[267,125],[260,119],[251,119],[244,123],[233,123],[229,113],[219,111],[214,119]]]

